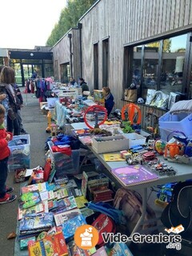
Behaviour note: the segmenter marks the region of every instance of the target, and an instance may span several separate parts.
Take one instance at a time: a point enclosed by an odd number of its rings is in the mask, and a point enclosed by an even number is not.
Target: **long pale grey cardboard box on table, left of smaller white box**
[[[98,154],[128,150],[129,139],[124,135],[107,136],[102,138],[93,138],[92,147]]]

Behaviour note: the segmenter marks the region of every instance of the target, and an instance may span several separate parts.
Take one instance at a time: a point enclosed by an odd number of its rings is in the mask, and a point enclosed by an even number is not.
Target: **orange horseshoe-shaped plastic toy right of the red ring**
[[[128,120],[126,120],[125,113],[128,114]],[[130,121],[130,124],[134,124],[134,118],[138,115],[138,120],[136,122],[139,125],[142,122],[142,112],[140,108],[134,103],[126,104],[122,107],[122,121]]]

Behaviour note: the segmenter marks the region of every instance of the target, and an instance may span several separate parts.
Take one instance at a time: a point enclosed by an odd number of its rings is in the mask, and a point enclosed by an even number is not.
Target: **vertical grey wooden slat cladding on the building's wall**
[[[192,3],[191,0],[100,0],[79,22],[82,23],[82,77],[90,90],[94,90],[94,44],[97,42],[98,88],[106,86],[102,82],[102,42],[108,38],[108,85],[116,108],[121,109],[123,90],[129,86],[123,85],[124,46],[139,45],[149,39],[155,41],[164,35],[171,37],[184,29],[192,31]],[[78,30],[76,32],[78,38]],[[78,39],[73,46],[79,49]],[[58,65],[70,61],[67,34],[53,47],[53,53]],[[77,52],[73,59],[76,74],[79,74],[78,58]]]

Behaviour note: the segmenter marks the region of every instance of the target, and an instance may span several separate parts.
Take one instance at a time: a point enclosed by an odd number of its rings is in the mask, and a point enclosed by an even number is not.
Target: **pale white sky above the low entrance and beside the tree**
[[[0,48],[46,46],[66,0],[5,0],[0,3]]]

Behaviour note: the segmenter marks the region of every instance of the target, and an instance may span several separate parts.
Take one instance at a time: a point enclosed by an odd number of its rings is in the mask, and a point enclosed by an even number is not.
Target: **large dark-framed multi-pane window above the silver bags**
[[[126,46],[124,85],[129,87],[134,82],[140,88],[138,95],[142,98],[146,98],[148,89],[162,90],[166,94],[185,92],[186,98],[190,91],[192,98],[191,80],[186,79],[190,72],[186,52],[190,52],[191,47],[187,38],[190,38],[190,33],[139,46]]]

